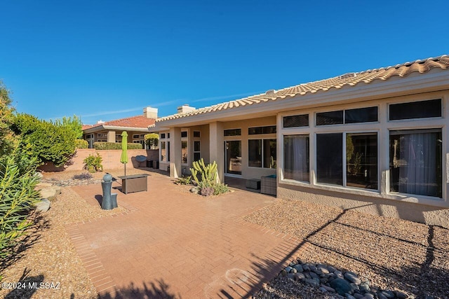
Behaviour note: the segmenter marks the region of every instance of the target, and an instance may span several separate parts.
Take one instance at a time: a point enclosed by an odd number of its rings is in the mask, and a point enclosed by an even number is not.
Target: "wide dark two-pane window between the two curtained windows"
[[[317,134],[316,181],[377,190],[377,133]]]

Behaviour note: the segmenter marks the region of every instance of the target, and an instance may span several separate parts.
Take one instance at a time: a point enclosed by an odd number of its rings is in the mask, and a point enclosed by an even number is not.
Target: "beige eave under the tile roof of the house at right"
[[[273,116],[281,111],[310,107],[350,104],[373,99],[449,90],[449,71],[431,70],[426,74],[410,74],[406,78],[395,77],[387,81],[358,83],[356,86],[332,88],[327,91],[285,97],[260,104],[248,104],[222,111],[200,113],[184,118],[156,122],[156,127],[180,127],[203,125],[215,121],[242,120],[253,117]]]

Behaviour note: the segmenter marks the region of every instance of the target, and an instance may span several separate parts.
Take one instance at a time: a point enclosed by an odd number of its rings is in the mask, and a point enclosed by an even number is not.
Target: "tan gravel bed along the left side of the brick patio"
[[[127,169],[126,172],[142,173],[142,169]],[[54,179],[55,182],[69,180],[79,173],[43,173],[43,179]],[[122,175],[123,170],[112,170],[110,173]],[[105,172],[93,174],[94,179],[101,179],[103,175]],[[42,214],[36,224],[36,232],[32,235],[39,239],[30,241],[33,244],[3,271],[4,279],[1,282],[6,283],[6,288],[2,285],[0,298],[97,298],[97,291],[65,231],[65,225],[123,211],[123,207],[106,211],[99,205],[86,204],[72,188],[63,187],[62,193],[51,203],[51,209]],[[18,282],[25,288],[14,288]],[[38,285],[43,282],[43,288],[29,288],[29,282]]]

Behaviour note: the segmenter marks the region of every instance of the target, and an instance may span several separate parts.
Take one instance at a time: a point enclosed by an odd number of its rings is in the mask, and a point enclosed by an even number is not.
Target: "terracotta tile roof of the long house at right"
[[[176,118],[185,118],[187,116],[196,116],[203,113],[211,113],[225,109],[233,109],[239,106],[276,101],[279,99],[286,99],[288,97],[297,97],[318,91],[326,92],[332,88],[340,89],[344,86],[355,86],[358,83],[372,83],[376,80],[385,81],[394,76],[404,77],[414,72],[426,73],[431,69],[449,69],[449,56],[442,55],[439,57],[427,58],[425,60],[416,60],[415,62],[397,64],[394,67],[382,67],[380,69],[368,69],[367,71],[361,71],[358,73],[343,74],[334,78],[304,83],[290,88],[283,88],[282,90],[269,90],[261,95],[253,95],[243,99],[236,99],[230,102],[197,109],[187,113],[178,113],[172,116],[158,118],[156,122],[173,120]]]

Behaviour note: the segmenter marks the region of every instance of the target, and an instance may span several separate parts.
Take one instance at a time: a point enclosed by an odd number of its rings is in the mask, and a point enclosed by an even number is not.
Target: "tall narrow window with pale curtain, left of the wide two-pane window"
[[[283,178],[309,182],[309,135],[283,137]]]

